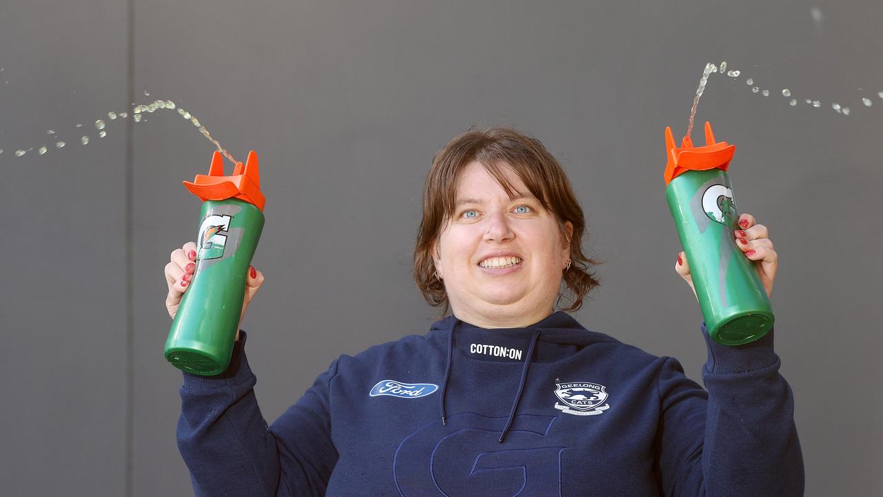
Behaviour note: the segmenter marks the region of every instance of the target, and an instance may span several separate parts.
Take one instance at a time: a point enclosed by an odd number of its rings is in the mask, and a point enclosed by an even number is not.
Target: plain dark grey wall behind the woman
[[[703,66],[721,60],[742,75],[713,78],[698,119],[736,143],[740,210],[781,258],[776,348],[806,494],[883,493],[881,15],[833,1],[5,0],[4,495],[191,492],[162,266],[194,236],[199,203],[180,181],[206,172],[212,147],[172,111],[109,121],[99,139],[91,123],[107,111],[171,99],[236,157],[259,152],[267,283],[244,327],[271,421],[337,355],[426,332],[435,310],[409,272],[420,188],[434,152],[473,124],[518,126],[569,172],[586,245],[608,261],[577,318],[699,378],[662,132],[683,134]],[[824,106],[791,108],[781,88]],[[14,157],[51,147],[48,129],[68,145]]]

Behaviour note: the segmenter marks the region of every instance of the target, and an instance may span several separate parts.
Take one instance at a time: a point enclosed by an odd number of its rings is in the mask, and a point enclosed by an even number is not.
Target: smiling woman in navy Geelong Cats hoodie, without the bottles
[[[766,292],[777,265],[748,214],[734,237]],[[218,377],[184,373],[177,429],[199,495],[792,495],[804,473],[773,333],[703,336],[708,391],[555,311],[598,282],[583,212],[540,141],[494,127],[451,140],[426,178],[414,277],[453,315],[340,356],[268,427],[245,333]],[[166,266],[171,316],[196,247]],[[692,287],[683,252],[675,271]],[[263,282],[251,269],[247,303]],[[695,292],[695,290],[694,290]]]

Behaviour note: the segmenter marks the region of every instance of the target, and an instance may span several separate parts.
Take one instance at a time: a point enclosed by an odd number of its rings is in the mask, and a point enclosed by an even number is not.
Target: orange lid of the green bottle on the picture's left
[[[266,202],[264,194],[260,193],[258,154],[254,150],[248,152],[245,167],[241,162],[236,163],[232,176],[223,175],[223,157],[221,152],[215,151],[212,155],[212,164],[208,166],[208,175],[197,174],[192,183],[184,181],[184,186],[190,190],[190,193],[200,197],[202,202],[238,198],[252,203],[260,210],[264,210]]]

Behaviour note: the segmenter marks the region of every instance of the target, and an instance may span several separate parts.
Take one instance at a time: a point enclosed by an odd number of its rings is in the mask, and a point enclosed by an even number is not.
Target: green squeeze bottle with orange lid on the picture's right
[[[675,147],[666,127],[665,196],[687,255],[708,335],[741,345],[773,328],[773,307],[754,261],[736,247],[739,214],[727,173],[736,146],[714,140],[706,122],[706,146],[684,136]]]

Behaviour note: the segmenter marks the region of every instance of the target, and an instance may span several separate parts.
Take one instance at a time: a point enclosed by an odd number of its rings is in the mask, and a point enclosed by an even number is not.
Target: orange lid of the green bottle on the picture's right
[[[679,174],[688,171],[707,171],[721,169],[727,171],[729,161],[733,159],[736,145],[726,141],[714,141],[712,125],[706,121],[706,146],[693,147],[690,136],[684,136],[681,148],[675,147],[675,138],[671,127],[665,128],[665,149],[668,153],[668,164],[665,166],[665,184],[674,180]]]

